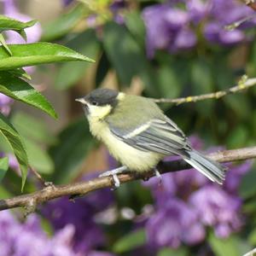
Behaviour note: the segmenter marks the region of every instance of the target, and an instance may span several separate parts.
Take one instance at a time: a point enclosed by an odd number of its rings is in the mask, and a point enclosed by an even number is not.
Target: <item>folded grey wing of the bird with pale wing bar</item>
[[[189,157],[190,145],[177,125],[171,119],[152,119],[133,131],[125,131],[110,125],[112,133],[134,148],[160,154],[177,154]]]

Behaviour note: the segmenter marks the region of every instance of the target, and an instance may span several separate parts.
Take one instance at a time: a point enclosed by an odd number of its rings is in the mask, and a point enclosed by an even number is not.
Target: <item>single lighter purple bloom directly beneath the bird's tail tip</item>
[[[238,213],[241,200],[218,186],[210,184],[195,191],[189,197],[189,203],[197,209],[200,222],[212,226],[217,236],[230,236],[241,227]]]

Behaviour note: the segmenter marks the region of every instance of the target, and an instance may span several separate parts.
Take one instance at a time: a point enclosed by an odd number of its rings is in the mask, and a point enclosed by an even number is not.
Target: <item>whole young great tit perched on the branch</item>
[[[104,172],[103,176],[113,176],[116,186],[118,173],[154,170],[167,155],[180,156],[212,182],[223,183],[224,166],[192,148],[183,131],[152,100],[96,89],[76,101],[83,104],[92,135],[123,165]]]

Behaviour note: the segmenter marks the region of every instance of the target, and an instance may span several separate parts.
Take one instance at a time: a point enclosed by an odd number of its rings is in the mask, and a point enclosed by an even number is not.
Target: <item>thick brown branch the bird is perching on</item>
[[[256,158],[256,147],[218,151],[212,154],[208,154],[208,157],[221,163],[236,160],[253,159]],[[166,173],[189,169],[191,168],[191,166],[189,166],[183,160],[175,160],[170,162],[160,162],[157,168],[160,173]],[[118,177],[120,183],[127,183],[139,178],[146,179],[153,176],[153,173],[148,172],[143,173],[141,176],[131,173],[120,174]],[[19,195],[10,199],[0,200],[0,211],[15,207],[25,207],[26,213],[30,213],[36,209],[38,204],[44,203],[45,201],[50,201],[64,195],[85,195],[91,191],[112,186],[112,177],[97,177],[90,181],[84,181],[80,183],[59,186],[52,185],[31,194]]]

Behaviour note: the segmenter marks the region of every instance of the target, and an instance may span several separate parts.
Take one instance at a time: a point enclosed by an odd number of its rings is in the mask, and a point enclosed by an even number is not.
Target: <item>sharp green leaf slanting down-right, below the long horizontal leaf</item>
[[[54,108],[51,107],[42,94],[33,89],[26,81],[16,78],[11,73],[0,72],[0,92],[17,101],[25,102],[35,108],[41,109],[49,113],[50,116],[57,118]]]

